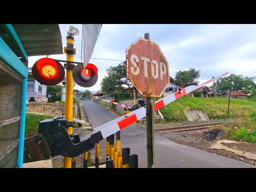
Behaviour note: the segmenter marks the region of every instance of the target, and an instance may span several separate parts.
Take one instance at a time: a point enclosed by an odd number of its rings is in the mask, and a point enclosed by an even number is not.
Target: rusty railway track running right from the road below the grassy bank
[[[181,127],[173,127],[173,128],[155,129],[155,131],[159,131],[159,132],[191,131],[191,130],[206,129],[206,128],[208,128],[208,126],[216,127],[220,124],[224,124],[224,123],[228,123],[228,122],[231,122],[231,121],[208,123],[208,124],[199,124],[199,125],[189,125],[189,126],[181,126]]]

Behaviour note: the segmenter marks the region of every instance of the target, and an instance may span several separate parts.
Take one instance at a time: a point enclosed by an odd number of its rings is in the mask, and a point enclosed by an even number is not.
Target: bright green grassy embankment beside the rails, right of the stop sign
[[[218,126],[226,139],[256,142],[256,102],[246,99],[182,97],[160,108],[168,122],[186,121],[186,110],[202,110],[210,120],[236,118],[236,122]]]

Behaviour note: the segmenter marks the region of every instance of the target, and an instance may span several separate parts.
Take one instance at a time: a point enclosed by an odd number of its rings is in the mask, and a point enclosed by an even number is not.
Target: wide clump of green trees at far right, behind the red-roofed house
[[[232,84],[230,78],[232,77]],[[217,92],[224,92],[229,90],[230,85],[232,85],[233,91],[242,91],[242,90],[254,90],[256,84],[254,81],[256,77],[244,77],[243,75],[230,74],[228,77],[220,78],[213,82],[212,88],[217,90]]]

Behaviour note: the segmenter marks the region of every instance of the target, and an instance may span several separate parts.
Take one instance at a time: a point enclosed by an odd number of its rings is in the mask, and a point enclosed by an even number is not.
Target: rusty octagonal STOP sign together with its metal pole
[[[126,48],[126,75],[146,97],[147,164],[148,168],[154,168],[154,102],[151,98],[162,96],[170,84],[170,76],[168,61],[158,44],[150,41],[149,33]]]

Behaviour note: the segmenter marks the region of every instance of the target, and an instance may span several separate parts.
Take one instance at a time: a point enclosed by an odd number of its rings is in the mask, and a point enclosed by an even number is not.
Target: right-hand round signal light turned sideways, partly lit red
[[[75,66],[72,74],[76,84],[82,87],[91,87],[98,80],[98,68],[91,63],[82,69],[80,65]]]

